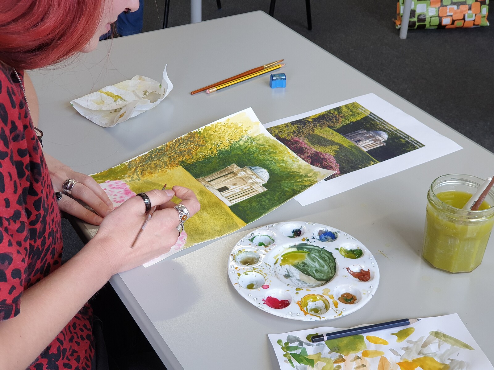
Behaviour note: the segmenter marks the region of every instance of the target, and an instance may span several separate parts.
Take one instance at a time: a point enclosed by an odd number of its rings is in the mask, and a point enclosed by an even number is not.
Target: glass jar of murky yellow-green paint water
[[[427,192],[422,256],[434,267],[470,272],[482,262],[494,224],[494,190],[489,191],[481,205],[485,209],[469,211],[456,207],[466,204],[483,183],[478,177],[462,174],[444,175],[432,182]],[[440,199],[445,194],[452,196],[451,202]],[[456,201],[460,195],[466,196],[466,200],[453,207],[456,195]]]

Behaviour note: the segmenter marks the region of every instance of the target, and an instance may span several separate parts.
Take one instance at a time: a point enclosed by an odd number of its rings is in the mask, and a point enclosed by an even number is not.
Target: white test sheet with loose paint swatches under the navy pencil
[[[494,370],[457,314],[312,343],[324,327],[268,334],[281,370]]]

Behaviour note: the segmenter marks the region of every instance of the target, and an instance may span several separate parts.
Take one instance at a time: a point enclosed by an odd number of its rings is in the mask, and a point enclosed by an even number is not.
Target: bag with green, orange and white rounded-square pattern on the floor
[[[396,28],[401,27],[405,0],[398,1]],[[489,26],[489,0],[412,1],[409,29]]]

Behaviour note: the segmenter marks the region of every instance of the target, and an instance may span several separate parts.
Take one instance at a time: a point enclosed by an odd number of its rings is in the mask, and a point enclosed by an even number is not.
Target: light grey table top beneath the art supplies
[[[189,94],[281,58],[287,63],[282,71],[286,89],[270,89],[269,78],[260,77],[209,95]],[[160,79],[166,63],[175,86],[170,95],[153,110],[113,128],[95,125],[68,103],[136,74]],[[494,240],[472,273],[442,272],[421,258],[425,195],[432,180],[447,173],[487,177],[494,155],[265,13],[100,42],[81,60],[32,77],[41,104],[44,150],[87,174],[247,107],[267,123],[371,92],[464,148],[316,204],[301,207],[291,200],[246,226],[319,222],[364,243],[379,265],[380,284],[373,299],[349,316],[322,323],[292,321],[248,303],[234,291],[226,271],[233,243],[245,230],[114,276],[112,285],[168,369],[277,369],[267,333],[454,312],[494,361]]]

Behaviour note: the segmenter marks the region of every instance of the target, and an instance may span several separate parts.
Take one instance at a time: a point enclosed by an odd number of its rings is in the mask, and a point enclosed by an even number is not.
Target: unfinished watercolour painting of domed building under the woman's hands
[[[332,173],[274,139],[249,108],[91,176],[116,205],[164,184],[194,190],[201,210],[163,259],[239,230]]]

